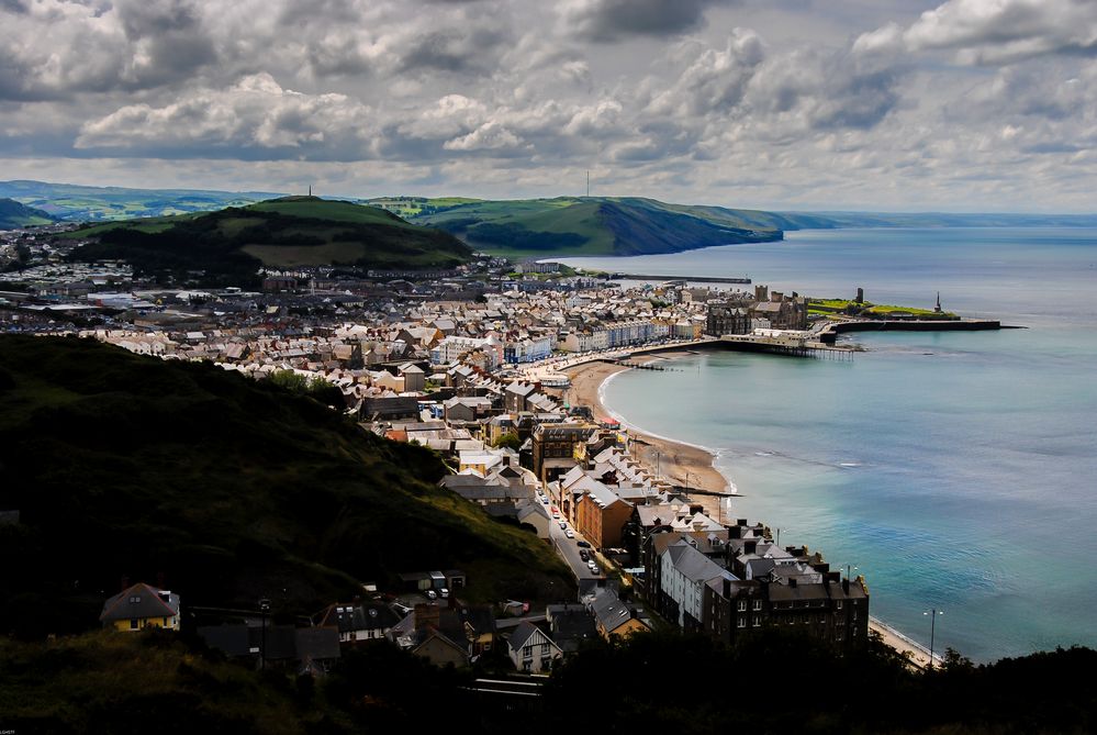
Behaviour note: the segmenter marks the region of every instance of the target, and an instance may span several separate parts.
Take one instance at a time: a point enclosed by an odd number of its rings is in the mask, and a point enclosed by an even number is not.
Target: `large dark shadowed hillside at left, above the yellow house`
[[[122,576],[184,603],[311,612],[359,581],[463,568],[484,600],[563,595],[531,533],[445,468],[309,398],[76,338],[0,337],[0,631],[94,626]],[[551,583],[551,584],[550,584]]]

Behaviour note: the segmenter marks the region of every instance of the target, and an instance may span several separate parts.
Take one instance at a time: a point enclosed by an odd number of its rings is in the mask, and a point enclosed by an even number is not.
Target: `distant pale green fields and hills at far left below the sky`
[[[74,222],[210,212],[226,207],[245,207],[277,196],[258,191],[124,189],[44,181],[0,181],[0,197],[10,197],[60,220]]]

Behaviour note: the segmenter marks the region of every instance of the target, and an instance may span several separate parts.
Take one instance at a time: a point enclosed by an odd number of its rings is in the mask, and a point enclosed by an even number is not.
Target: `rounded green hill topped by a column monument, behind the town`
[[[347,265],[452,268],[471,250],[452,235],[376,207],[284,197],[208,214],[98,224],[69,233],[96,242],[72,258],[122,258],[139,274],[199,282],[254,285],[260,266]]]

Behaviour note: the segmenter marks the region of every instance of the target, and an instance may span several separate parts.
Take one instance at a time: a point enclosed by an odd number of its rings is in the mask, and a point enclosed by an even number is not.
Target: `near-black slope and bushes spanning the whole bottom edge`
[[[785,630],[734,650],[681,634],[595,642],[553,673],[542,697],[505,697],[478,695],[467,689],[472,672],[436,669],[387,642],[346,647],[335,670],[313,680],[245,670],[186,633],[0,638],[0,730],[136,734],[155,722],[161,735],[447,725],[527,735],[1081,735],[1097,725],[1086,686],[1097,652],[1089,649],[980,667],[951,657],[945,668],[918,673],[882,649],[836,659],[819,646]]]

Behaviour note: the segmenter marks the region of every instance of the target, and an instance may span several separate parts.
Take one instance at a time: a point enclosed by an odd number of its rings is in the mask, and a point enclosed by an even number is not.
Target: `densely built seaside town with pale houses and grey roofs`
[[[42,229],[4,237],[26,266],[4,276],[5,331],[211,361],[322,396],[374,434],[437,452],[452,469],[444,488],[535,533],[577,580],[578,598],[544,610],[468,604],[461,570],[410,569],[402,589],[367,583],[292,625],[268,625],[269,600],[223,620],[197,611],[217,621],[201,635],[232,656],[318,673],[340,646],[384,637],[439,665],[505,650],[517,671],[537,673],[593,636],[667,625],[726,643],[795,626],[838,653],[867,641],[863,577],[781,546],[762,523],[725,517],[734,488],[675,483],[650,453],[640,461],[635,433],[569,401],[569,371],[596,361],[641,366],[729,335],[826,348],[798,294],[620,283],[483,254],[450,271],[311,268],[266,272],[259,291],[167,288],[123,263],[63,260],[65,246]],[[102,624],[178,628],[186,590],[134,581],[107,601]]]

